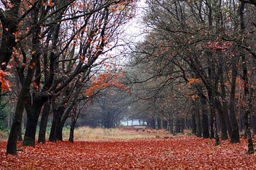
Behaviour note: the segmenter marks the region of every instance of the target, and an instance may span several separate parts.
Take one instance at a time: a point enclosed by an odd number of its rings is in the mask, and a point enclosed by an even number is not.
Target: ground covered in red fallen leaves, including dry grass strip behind
[[[246,154],[244,139],[214,146],[214,140],[164,131],[94,129],[87,140],[78,132],[83,141],[18,143],[17,156],[6,155],[6,142],[0,142],[0,169],[256,169],[256,154]]]

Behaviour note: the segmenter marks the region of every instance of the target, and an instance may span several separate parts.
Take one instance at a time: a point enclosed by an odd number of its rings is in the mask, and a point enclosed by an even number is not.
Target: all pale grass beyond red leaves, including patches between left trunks
[[[38,131],[36,132],[36,141],[38,140]],[[24,129],[23,129],[24,135]],[[46,129],[46,141],[49,139],[50,125]],[[68,140],[70,135],[70,126],[63,128],[63,140]],[[0,141],[8,140],[9,130],[0,130]],[[137,132],[134,128],[89,128],[80,127],[75,128],[75,141],[109,141],[109,140],[135,140],[135,139],[149,139],[149,138],[171,138],[168,131],[165,130],[151,130],[146,129],[144,132],[139,130]]]

